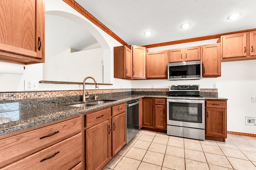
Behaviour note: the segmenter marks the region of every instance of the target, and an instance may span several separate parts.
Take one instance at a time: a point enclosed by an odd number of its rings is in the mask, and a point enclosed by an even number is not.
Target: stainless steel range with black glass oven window
[[[204,98],[199,85],[169,86],[167,134],[204,140]]]

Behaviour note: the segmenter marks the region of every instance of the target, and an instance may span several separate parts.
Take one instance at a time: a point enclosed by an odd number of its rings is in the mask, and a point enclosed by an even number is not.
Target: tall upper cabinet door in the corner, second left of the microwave
[[[132,46],[133,78],[146,78],[146,47]]]

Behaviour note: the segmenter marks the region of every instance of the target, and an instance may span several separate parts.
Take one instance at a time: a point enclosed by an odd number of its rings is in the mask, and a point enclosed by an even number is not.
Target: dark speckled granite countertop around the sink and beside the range
[[[40,106],[34,108],[19,109],[19,101],[12,103],[0,104],[0,135],[19,131],[29,127],[42,125],[52,121],[64,119],[74,115],[87,113],[104,107],[121,104],[130,100],[150,97],[150,98],[166,98],[167,95],[126,95],[106,98],[107,100],[116,100],[101,105],[89,107],[70,107],[72,103],[53,104],[50,106]],[[206,100],[227,100],[221,97],[205,97]],[[73,104],[77,104],[73,103]],[[83,103],[83,102],[79,102]]]

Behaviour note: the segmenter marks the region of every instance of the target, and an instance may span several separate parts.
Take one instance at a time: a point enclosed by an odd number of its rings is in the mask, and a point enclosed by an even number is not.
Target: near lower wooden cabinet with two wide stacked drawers
[[[70,170],[82,162],[81,123],[76,117],[1,136],[0,169]]]

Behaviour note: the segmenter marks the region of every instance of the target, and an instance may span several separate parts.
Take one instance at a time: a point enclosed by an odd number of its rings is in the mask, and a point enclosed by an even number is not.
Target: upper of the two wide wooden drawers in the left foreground
[[[0,168],[81,132],[81,117],[0,140]]]

